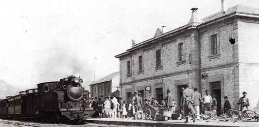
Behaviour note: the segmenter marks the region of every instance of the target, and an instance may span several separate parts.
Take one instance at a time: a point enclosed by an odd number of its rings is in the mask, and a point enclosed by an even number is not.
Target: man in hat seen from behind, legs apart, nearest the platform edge
[[[192,116],[193,123],[195,122],[195,111],[194,111],[194,92],[186,85],[186,89],[183,91],[184,98],[184,115],[186,118],[185,123],[188,123],[189,113]]]

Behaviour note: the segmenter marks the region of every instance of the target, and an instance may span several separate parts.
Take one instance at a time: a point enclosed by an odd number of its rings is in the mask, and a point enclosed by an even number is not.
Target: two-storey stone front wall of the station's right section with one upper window
[[[239,98],[238,42],[230,44],[229,39],[238,41],[238,25],[235,20],[217,22],[200,29],[201,73],[207,78],[201,80],[202,94],[210,90],[210,82],[221,81],[221,107],[224,96],[228,96],[232,108],[238,109]],[[217,35],[217,54],[211,54],[211,36]]]

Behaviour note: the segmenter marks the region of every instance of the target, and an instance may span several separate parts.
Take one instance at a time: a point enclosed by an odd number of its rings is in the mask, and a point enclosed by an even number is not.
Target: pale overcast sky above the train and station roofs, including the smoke
[[[226,7],[257,7],[259,0],[225,0]],[[186,25],[191,8],[200,18],[221,11],[221,0],[1,0],[0,79],[23,89],[81,76],[87,86],[119,71],[114,56]]]

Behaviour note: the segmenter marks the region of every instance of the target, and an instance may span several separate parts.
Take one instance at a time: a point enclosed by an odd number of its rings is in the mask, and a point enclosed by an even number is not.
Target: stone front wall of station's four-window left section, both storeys
[[[178,44],[183,43],[185,58],[178,61]],[[155,52],[161,49],[161,69],[155,69]],[[138,56],[143,57],[143,72],[139,73]],[[121,96],[126,98],[127,92],[144,90],[144,99],[155,97],[155,88],[163,88],[163,97],[166,90],[170,89],[176,103],[179,103],[179,88],[177,86],[190,84],[192,88],[199,88],[199,35],[191,31],[183,35],[170,38],[164,43],[155,45],[132,53],[132,77],[126,77],[127,61],[130,56],[121,61]],[[155,76],[161,76],[155,77]],[[131,80],[132,79],[132,80]],[[133,81],[133,82],[131,82]],[[124,83],[127,83],[124,85]],[[145,91],[146,86],[151,86],[151,91]]]

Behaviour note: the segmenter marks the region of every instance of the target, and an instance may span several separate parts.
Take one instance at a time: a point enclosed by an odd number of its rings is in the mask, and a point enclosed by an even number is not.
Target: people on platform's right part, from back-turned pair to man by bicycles
[[[216,95],[212,97],[209,95],[209,91],[205,91],[205,95],[202,97],[201,93],[198,92],[197,88],[194,88],[194,91],[189,88],[189,85],[186,85],[186,88],[182,88],[182,97],[180,99],[180,107],[182,112],[184,112],[184,117],[186,119],[185,123],[188,123],[189,115],[192,116],[193,122],[195,122],[195,116],[197,120],[200,120],[200,104],[202,104],[204,111],[215,112],[217,111],[217,100]],[[243,111],[248,109],[249,107],[249,99],[246,97],[246,92],[244,91],[243,96],[239,99],[238,103],[240,106],[240,110]],[[231,105],[228,101],[228,97],[224,97],[224,113],[227,110],[232,109]]]

